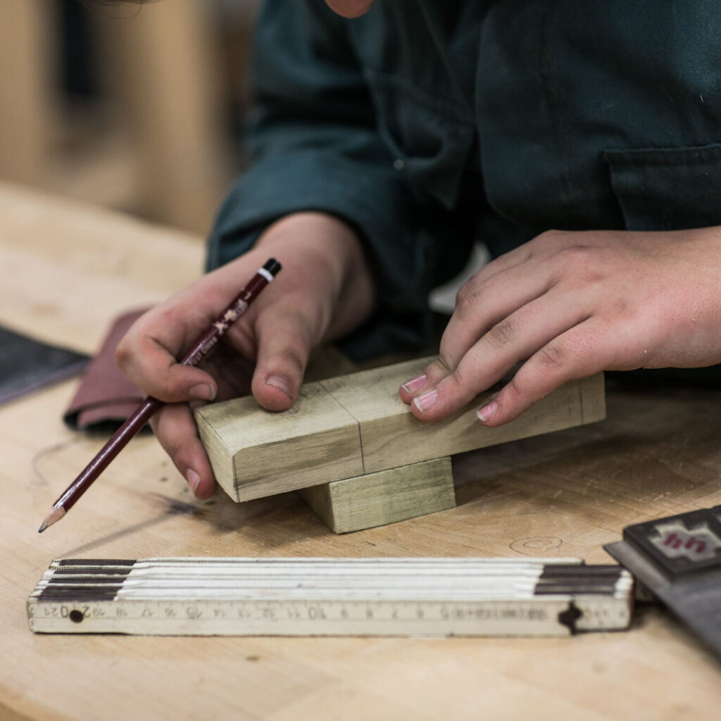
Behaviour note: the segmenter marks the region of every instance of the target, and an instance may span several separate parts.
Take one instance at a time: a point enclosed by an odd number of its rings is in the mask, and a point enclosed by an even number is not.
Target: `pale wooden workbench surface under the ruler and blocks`
[[[0,324],[92,353],[115,314],[200,273],[197,239],[0,185]],[[0,349],[1,352],[1,349]],[[76,381],[0,407],[0,718],[717,719],[721,664],[653,606],[568,639],[33,635],[56,557],[578,556],[629,523],[721,503],[721,391],[609,384],[601,423],[454,459],[459,506],[332,534],[294,494],[194,500],[136,438],[45,534],[104,438],[65,428]]]

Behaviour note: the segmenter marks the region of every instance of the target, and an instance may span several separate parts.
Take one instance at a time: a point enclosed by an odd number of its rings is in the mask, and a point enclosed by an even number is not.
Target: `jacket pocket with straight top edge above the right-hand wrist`
[[[721,144],[604,156],[627,230],[721,225]]]

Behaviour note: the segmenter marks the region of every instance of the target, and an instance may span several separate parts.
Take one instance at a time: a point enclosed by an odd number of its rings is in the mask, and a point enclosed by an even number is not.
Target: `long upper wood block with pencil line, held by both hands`
[[[398,388],[430,361],[422,358],[306,384],[286,412],[262,410],[252,398],[196,412],[200,438],[221,486],[235,500],[374,473],[601,420],[603,376],[571,381],[521,417],[485,428],[481,394],[438,423],[422,423]]]

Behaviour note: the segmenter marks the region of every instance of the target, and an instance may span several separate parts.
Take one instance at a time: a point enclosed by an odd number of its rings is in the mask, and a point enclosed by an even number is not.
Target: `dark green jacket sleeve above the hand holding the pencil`
[[[323,0],[270,0],[262,7],[249,168],[218,213],[208,268],[246,252],[289,213],[342,218],[366,243],[379,287],[378,311],[342,343],[362,358],[427,342],[428,293],[443,265],[432,229],[443,218],[413,197],[376,133],[347,22]]]

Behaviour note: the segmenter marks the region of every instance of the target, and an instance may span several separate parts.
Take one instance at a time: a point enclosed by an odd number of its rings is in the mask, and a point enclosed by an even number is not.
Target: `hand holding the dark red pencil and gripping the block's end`
[[[268,257],[279,260],[283,270],[203,367],[177,363]],[[374,298],[355,232],[322,213],[297,213],[270,226],[245,255],[133,324],[115,359],[143,392],[169,404],[151,425],[196,496],[212,495],[216,482],[188,402],[252,391],[262,407],[286,410],[298,397],[312,350],[361,324]]]

